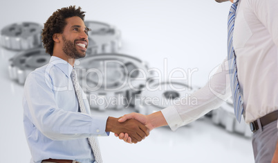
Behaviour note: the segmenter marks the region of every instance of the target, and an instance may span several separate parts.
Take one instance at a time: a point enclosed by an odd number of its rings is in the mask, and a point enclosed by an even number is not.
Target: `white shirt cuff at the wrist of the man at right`
[[[171,130],[176,130],[183,124],[183,120],[180,118],[180,114],[174,106],[169,106],[163,110],[161,110],[163,116],[165,117],[169,127]]]

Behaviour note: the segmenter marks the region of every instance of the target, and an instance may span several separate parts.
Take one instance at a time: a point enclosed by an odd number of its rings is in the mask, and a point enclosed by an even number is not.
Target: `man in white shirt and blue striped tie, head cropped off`
[[[150,130],[166,125],[176,130],[219,108],[232,96],[237,120],[240,122],[243,114],[253,132],[255,162],[278,162],[278,1],[230,1],[233,4],[228,16],[228,57],[209,83],[192,94],[198,105],[180,103],[147,116],[127,114],[119,121],[137,119]],[[131,142],[127,134],[121,133],[120,139]]]

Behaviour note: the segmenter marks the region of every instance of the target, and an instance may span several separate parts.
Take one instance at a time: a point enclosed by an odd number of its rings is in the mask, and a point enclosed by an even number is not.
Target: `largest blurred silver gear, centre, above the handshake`
[[[130,55],[101,53],[79,61],[75,67],[80,85],[96,110],[127,108],[133,92],[145,87],[150,77],[145,63]]]

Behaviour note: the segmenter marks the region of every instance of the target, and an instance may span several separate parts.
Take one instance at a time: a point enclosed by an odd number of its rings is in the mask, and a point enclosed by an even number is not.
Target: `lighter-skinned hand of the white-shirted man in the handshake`
[[[149,114],[149,115],[132,112],[130,114],[125,114],[118,121],[124,122],[127,121],[127,119],[136,119],[137,121],[140,121],[149,129],[149,131],[153,130],[154,128],[158,128],[160,126],[167,125],[167,121],[165,120],[162,112],[154,112],[153,114]],[[120,135],[115,133],[115,137],[119,137],[119,139],[122,139],[125,142],[130,144],[131,141],[133,140],[132,137],[129,137],[129,135],[125,132],[120,133]]]

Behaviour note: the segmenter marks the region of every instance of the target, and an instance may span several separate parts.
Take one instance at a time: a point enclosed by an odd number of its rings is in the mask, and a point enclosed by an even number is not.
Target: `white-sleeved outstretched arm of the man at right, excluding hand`
[[[207,85],[191,94],[190,98],[183,99],[176,105],[162,110],[168,125],[172,130],[191,123],[207,112],[219,108],[230,96],[230,79],[227,59],[223,60],[216,73],[210,77]]]

